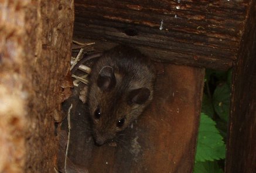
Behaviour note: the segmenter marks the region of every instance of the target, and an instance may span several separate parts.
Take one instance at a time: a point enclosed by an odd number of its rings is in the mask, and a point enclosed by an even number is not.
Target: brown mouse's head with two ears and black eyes
[[[101,145],[113,139],[142,113],[152,100],[152,91],[148,87],[132,86],[129,79],[115,73],[111,66],[104,66],[92,78],[88,102],[93,136]]]

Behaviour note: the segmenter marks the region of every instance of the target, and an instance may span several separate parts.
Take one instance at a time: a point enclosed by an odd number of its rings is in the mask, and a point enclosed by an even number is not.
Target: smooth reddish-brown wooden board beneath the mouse
[[[117,146],[95,146],[84,105],[73,98],[69,158],[74,164],[97,173],[192,172],[204,69],[166,63],[156,63],[156,69],[152,104]]]

